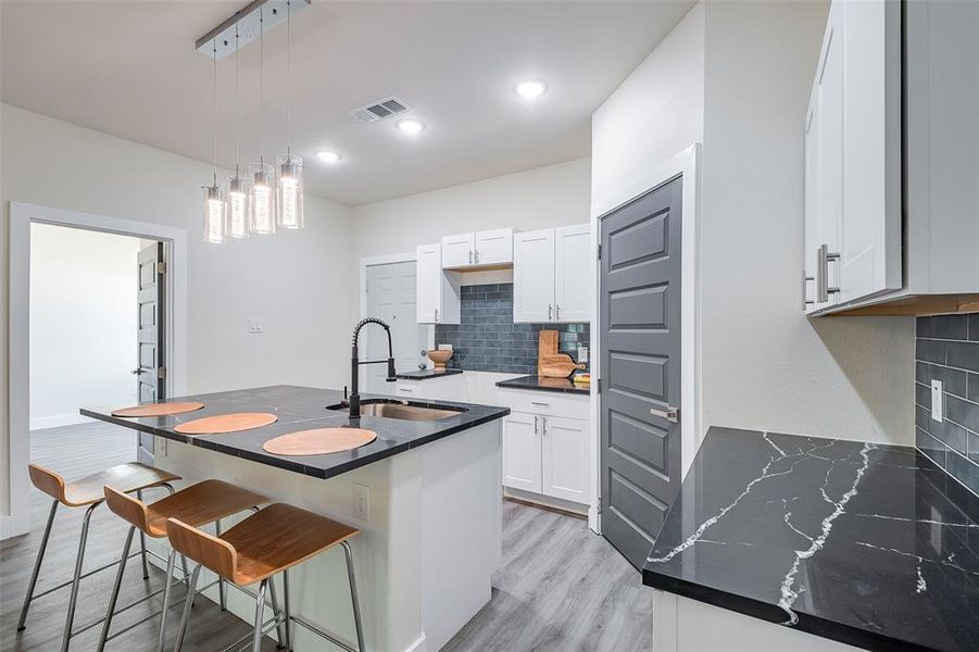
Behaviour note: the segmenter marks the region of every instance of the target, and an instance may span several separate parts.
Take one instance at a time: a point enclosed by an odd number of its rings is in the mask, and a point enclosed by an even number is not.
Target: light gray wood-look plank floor
[[[90,423],[32,434],[32,460],[75,478],[135,459],[131,430]],[[149,497],[148,497],[149,498]],[[16,620],[43,530],[50,499],[33,491],[32,530],[0,543],[0,650],[57,650],[64,626],[67,590],[36,601],[27,629],[16,634]],[[67,579],[72,573],[84,510],[59,507],[48,553],[38,581],[39,590]],[[96,510],[89,531],[86,569],[117,559],[125,526],[104,506]],[[135,546],[134,546],[135,550]],[[163,573],[152,568],[147,582],[140,578],[139,560],[129,561],[120,604],[126,604],[162,584]],[[83,580],[76,627],[104,614],[105,597],[114,570]],[[175,597],[180,589],[175,589]],[[158,609],[159,597],[118,616],[124,626]],[[444,648],[460,651],[631,652],[652,649],[652,590],[640,575],[604,539],[591,532],[585,521],[513,502],[503,507],[503,566],[493,578],[492,601]],[[179,610],[171,613],[175,628]],[[217,650],[251,630],[237,617],[222,613],[206,599],[193,607],[188,651]],[[92,650],[98,627],[76,637],[72,650]],[[110,641],[106,650],[152,650],[155,619]],[[172,637],[167,643],[172,644]],[[324,643],[324,650],[329,645]],[[275,650],[266,638],[263,650]]]

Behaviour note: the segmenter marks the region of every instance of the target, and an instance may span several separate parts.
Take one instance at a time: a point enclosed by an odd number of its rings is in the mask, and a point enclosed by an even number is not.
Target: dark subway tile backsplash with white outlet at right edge
[[[931,381],[942,381],[944,421],[931,418]],[[915,441],[979,494],[979,314],[918,317]]]

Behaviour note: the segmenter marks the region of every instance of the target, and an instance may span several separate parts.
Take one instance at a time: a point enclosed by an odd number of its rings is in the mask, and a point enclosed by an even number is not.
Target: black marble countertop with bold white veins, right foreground
[[[979,499],[913,448],[711,428],[643,584],[868,650],[979,650]]]

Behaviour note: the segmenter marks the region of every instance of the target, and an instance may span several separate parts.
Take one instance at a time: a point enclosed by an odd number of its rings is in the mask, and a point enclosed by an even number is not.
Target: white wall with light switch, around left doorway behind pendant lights
[[[9,105],[0,121],[0,312],[9,310],[11,200],[184,228],[189,391],[343,385],[357,294],[348,206],[307,195],[302,231],[206,244],[200,238],[200,186],[211,174],[204,163]],[[265,334],[248,335],[249,317],[261,318]],[[8,318],[0,324],[0,476],[7,478]],[[0,482],[0,511],[9,513],[7,491]]]

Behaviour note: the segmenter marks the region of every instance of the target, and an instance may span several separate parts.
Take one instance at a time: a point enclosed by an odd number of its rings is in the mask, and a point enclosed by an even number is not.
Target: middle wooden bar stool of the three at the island
[[[150,505],[109,486],[104,488],[104,491],[105,504],[109,505],[109,509],[130,525],[129,532],[126,536],[126,542],[123,544],[123,554],[120,556],[120,560],[122,561],[129,556],[129,547],[133,544],[133,535],[136,532],[137,528],[140,534],[145,536],[161,539],[166,537],[166,519],[179,518],[183,523],[187,523],[194,527],[214,523],[219,531],[222,518],[227,518],[228,516],[233,516],[246,510],[258,510],[259,505],[268,502],[268,499],[260,493],[236,487],[235,485],[222,480],[204,480],[203,482],[191,485],[190,487],[181,489]],[[176,551],[171,548],[170,555],[166,560],[165,584],[163,585],[163,606],[160,611],[160,634],[156,639],[158,651],[163,650],[163,642],[166,637],[166,614],[171,607],[170,591],[171,585],[173,584],[172,576],[174,573],[175,561]],[[125,569],[126,564],[120,563],[118,572],[115,576],[115,585],[113,585],[112,593],[109,598],[109,609],[105,612],[105,619],[102,622],[102,634],[99,636],[99,652],[105,648],[105,642],[110,639],[128,631],[133,627],[136,627],[156,615],[155,613],[150,614],[141,620],[129,625],[125,629],[115,632],[111,637],[109,636],[109,628],[112,625],[112,617],[115,614],[124,612],[146,600],[146,598],[142,598],[116,611],[115,604],[118,600],[120,587],[123,584],[123,574],[125,573]],[[188,578],[189,574],[187,573],[187,564],[185,561],[184,580],[187,581]],[[218,581],[221,582],[218,588],[222,602],[221,606],[224,609],[224,580],[222,579]],[[193,594],[189,589],[190,584],[188,582],[188,592],[184,599],[192,601]]]

